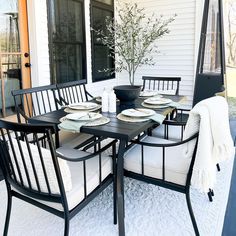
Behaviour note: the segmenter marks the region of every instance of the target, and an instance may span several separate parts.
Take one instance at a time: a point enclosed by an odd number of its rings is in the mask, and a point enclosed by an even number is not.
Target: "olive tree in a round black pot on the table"
[[[118,7],[116,13],[115,19],[106,18],[103,29],[94,31],[96,40],[108,47],[109,56],[115,60],[115,68],[110,72],[128,72],[130,86],[116,86],[114,90],[117,97],[126,101],[123,90],[128,90],[128,96],[134,100],[141,88],[135,86],[135,72],[142,65],[154,65],[152,53],[157,52],[156,41],[170,32],[168,25],[174,20],[175,15],[166,20],[163,16],[156,17],[155,14],[146,17],[144,8],[139,8],[136,3],[124,3],[122,7]]]

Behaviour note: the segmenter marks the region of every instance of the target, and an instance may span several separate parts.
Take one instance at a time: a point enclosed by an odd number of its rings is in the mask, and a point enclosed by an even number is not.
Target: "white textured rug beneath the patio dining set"
[[[214,201],[191,191],[191,200],[201,235],[221,235],[228,200],[233,161],[221,164]],[[6,213],[5,184],[0,183],[0,235]],[[185,195],[151,184],[125,179],[125,224],[128,236],[194,235]],[[41,209],[13,200],[9,235],[63,235],[63,220]],[[112,187],[85,207],[70,223],[70,235],[118,235],[113,225]]]

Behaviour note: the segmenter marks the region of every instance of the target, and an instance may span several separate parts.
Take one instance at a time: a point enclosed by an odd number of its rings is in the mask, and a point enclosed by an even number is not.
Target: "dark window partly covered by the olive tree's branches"
[[[92,0],[91,26],[94,29],[101,29],[105,26],[106,17],[114,16],[113,0]],[[101,81],[114,77],[114,74],[104,71],[114,68],[114,60],[109,57],[109,49],[96,39],[92,31],[92,80]]]

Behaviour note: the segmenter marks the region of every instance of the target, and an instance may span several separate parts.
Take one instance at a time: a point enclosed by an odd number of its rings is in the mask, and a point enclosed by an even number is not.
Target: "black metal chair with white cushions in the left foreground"
[[[51,125],[0,121],[0,130],[0,166],[8,195],[4,236],[8,233],[13,197],[63,218],[67,236],[71,218],[115,183],[115,140],[97,152],[88,153],[85,150],[91,144],[84,150],[56,150]],[[46,135],[48,149],[40,146],[42,134]],[[28,140],[29,135],[33,136],[34,144]],[[108,148],[112,148],[112,156],[102,155]],[[116,223],[115,184],[113,189]]]

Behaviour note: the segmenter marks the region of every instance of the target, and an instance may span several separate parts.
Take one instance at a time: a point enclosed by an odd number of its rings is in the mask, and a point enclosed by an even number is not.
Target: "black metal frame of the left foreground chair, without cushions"
[[[4,227],[4,236],[7,235],[8,228],[9,228],[9,221],[10,221],[10,214],[11,214],[11,208],[12,208],[12,198],[16,197],[23,201],[26,201],[32,205],[35,205],[43,210],[46,210],[54,215],[57,215],[64,219],[64,235],[67,236],[69,234],[69,221],[70,219],[75,216],[83,207],[85,207],[92,199],[94,199],[100,192],[102,192],[110,183],[113,182],[113,198],[114,198],[114,224],[117,223],[117,206],[116,206],[116,140],[112,141],[108,145],[104,146],[103,148],[99,149],[99,151],[94,153],[88,153],[87,155],[77,158],[77,159],[70,159],[70,157],[62,156],[56,153],[56,149],[54,146],[54,141],[52,139],[52,133],[55,132],[53,125],[32,125],[32,124],[17,124],[12,122],[6,122],[6,121],[0,121],[0,131],[2,134],[2,139],[0,140],[0,165],[3,169],[3,175],[7,187],[7,194],[8,194],[8,203],[7,203],[7,214],[6,214],[6,220],[5,220],[5,227]],[[4,133],[6,131],[6,134]],[[20,157],[15,156],[15,153],[13,151],[15,166],[13,166],[12,159],[9,154],[9,146],[11,146],[12,150],[13,144],[12,144],[12,136],[11,131],[14,132],[16,136],[16,140],[19,146],[19,150],[21,152],[21,158],[24,163],[24,173],[27,177],[27,184],[22,180],[22,173],[23,170],[19,168],[18,165],[18,159]],[[20,136],[18,136],[18,132],[20,132]],[[54,194],[50,190],[50,183],[48,182],[46,169],[43,167],[44,170],[44,178],[47,182],[47,189],[48,191],[41,191],[39,183],[38,183],[38,176],[37,172],[35,171],[34,166],[34,158],[33,154],[30,151],[29,141],[28,141],[28,134],[32,133],[34,137],[36,137],[36,146],[39,150],[39,155],[41,159],[42,166],[44,166],[43,156],[40,151],[40,145],[39,141],[37,140],[38,134],[46,134],[49,150],[52,157],[52,162],[56,174],[56,179],[59,187],[59,194]],[[28,167],[25,165],[25,159],[24,154],[22,152],[22,147],[20,144],[20,139],[22,138],[22,134],[24,135],[24,141],[27,144],[28,152],[30,155],[31,165],[34,170],[34,178],[37,183],[37,188],[33,189],[31,186],[31,181],[29,178],[29,171]],[[7,136],[7,137],[6,137]],[[7,138],[7,139],[6,139]],[[8,140],[8,141],[7,141]],[[108,175],[103,181],[101,179],[101,153],[104,152],[106,149],[112,147],[112,160],[113,160],[113,174]],[[86,160],[93,158],[95,156],[99,156],[99,186],[93,190],[90,194],[86,193]],[[83,163],[83,169],[84,169],[84,200],[80,202],[76,207],[74,207],[72,210],[68,209],[68,203],[65,193],[64,184],[62,181],[62,175],[60,172],[59,164],[58,164],[58,157],[63,158],[67,161],[73,161],[73,162],[82,162]],[[16,178],[16,173],[18,173],[19,180]],[[50,207],[46,204],[40,203],[38,200],[48,201],[48,202],[55,202],[59,203],[63,207],[63,211],[60,211],[58,209],[55,209],[53,207]]]

